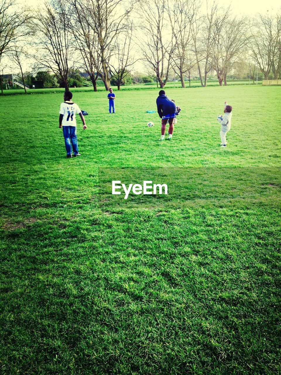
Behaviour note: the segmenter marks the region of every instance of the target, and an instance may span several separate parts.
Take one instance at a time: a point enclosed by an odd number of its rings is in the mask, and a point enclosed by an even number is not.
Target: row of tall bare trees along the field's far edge
[[[281,12],[250,19],[200,0],[52,0],[38,9],[0,0],[0,74],[13,65],[24,82],[27,59],[66,90],[78,71],[95,91],[98,80],[106,90],[112,80],[120,89],[134,82],[138,61],[160,87],[171,75],[182,87],[191,75],[203,87],[214,74],[226,85],[239,66],[253,80],[278,79]]]

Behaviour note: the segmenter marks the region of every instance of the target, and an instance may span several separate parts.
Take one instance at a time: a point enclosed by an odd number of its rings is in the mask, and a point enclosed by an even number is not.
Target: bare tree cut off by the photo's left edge
[[[28,9],[19,9],[13,0],[0,0],[0,63],[19,42],[25,38],[30,26]],[[1,94],[3,87],[1,85]]]

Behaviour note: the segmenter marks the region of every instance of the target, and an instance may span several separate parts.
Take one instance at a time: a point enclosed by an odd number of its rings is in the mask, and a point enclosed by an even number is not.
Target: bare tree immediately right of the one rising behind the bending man
[[[181,87],[185,87],[184,76],[194,65],[191,59],[191,25],[197,18],[199,6],[197,0],[175,0],[172,6],[167,3],[175,41],[175,52],[172,56],[173,68],[176,68],[175,72],[179,75]]]

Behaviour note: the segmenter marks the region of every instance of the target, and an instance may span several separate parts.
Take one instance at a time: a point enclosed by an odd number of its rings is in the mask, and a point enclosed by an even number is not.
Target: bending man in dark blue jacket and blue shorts
[[[159,91],[159,96],[156,99],[157,104],[157,112],[160,118],[162,119],[161,123],[161,138],[159,141],[164,141],[165,139],[165,130],[166,130],[166,124],[169,120],[169,136],[168,141],[172,139],[173,135],[173,121],[176,117],[176,105],[174,102],[172,102],[169,98],[167,98],[167,95],[165,95],[164,90]]]

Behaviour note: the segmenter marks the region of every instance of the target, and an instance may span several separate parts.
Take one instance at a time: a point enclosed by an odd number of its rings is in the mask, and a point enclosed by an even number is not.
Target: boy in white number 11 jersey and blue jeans
[[[87,129],[84,116],[77,104],[73,103],[72,92],[66,91],[63,95],[64,103],[60,105],[60,124],[63,127],[64,143],[66,148],[66,157],[80,156],[78,152],[77,133],[76,133],[76,113],[79,114],[83,123],[83,130]],[[72,146],[72,150],[71,150]]]

